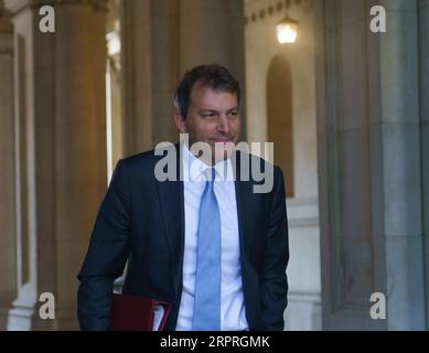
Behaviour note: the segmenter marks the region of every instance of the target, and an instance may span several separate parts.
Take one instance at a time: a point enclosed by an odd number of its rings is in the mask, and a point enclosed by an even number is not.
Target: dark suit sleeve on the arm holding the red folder
[[[81,330],[109,330],[114,281],[122,275],[129,247],[127,170],[119,161],[98,211],[89,247],[77,276]]]

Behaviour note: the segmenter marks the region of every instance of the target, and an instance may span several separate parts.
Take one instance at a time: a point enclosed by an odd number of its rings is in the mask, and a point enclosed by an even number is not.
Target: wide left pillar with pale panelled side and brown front
[[[18,298],[10,330],[77,329],[76,275],[107,185],[105,1],[8,0],[15,45]],[[55,296],[55,320],[39,298]]]

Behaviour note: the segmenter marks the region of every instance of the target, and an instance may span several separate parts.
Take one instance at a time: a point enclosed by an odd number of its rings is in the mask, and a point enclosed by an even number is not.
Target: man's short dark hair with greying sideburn
[[[191,92],[196,83],[216,90],[235,93],[239,105],[239,83],[233,77],[228,69],[217,64],[200,65],[184,74],[174,92],[174,106],[183,118],[186,118]]]

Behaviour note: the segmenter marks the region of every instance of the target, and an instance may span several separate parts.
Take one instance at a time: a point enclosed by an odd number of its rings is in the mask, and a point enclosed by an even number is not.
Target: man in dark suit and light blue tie
[[[118,162],[78,274],[83,330],[109,329],[114,281],[127,260],[122,292],[171,302],[167,330],[283,330],[283,176],[232,148],[240,132],[239,99],[225,67],[193,68],[174,101],[189,141],[167,149],[181,178],[160,180],[163,156],[154,151]],[[210,153],[195,152],[199,143]],[[255,192],[260,180],[243,178],[244,159],[250,170],[256,163],[272,171],[270,190]]]

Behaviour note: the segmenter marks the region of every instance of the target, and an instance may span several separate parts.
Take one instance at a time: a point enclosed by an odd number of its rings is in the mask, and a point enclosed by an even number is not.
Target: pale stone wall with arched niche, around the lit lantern
[[[245,1],[248,137],[275,142],[274,160],[289,188],[287,330],[321,329],[314,1]],[[299,22],[297,43],[280,45],[276,24]]]

